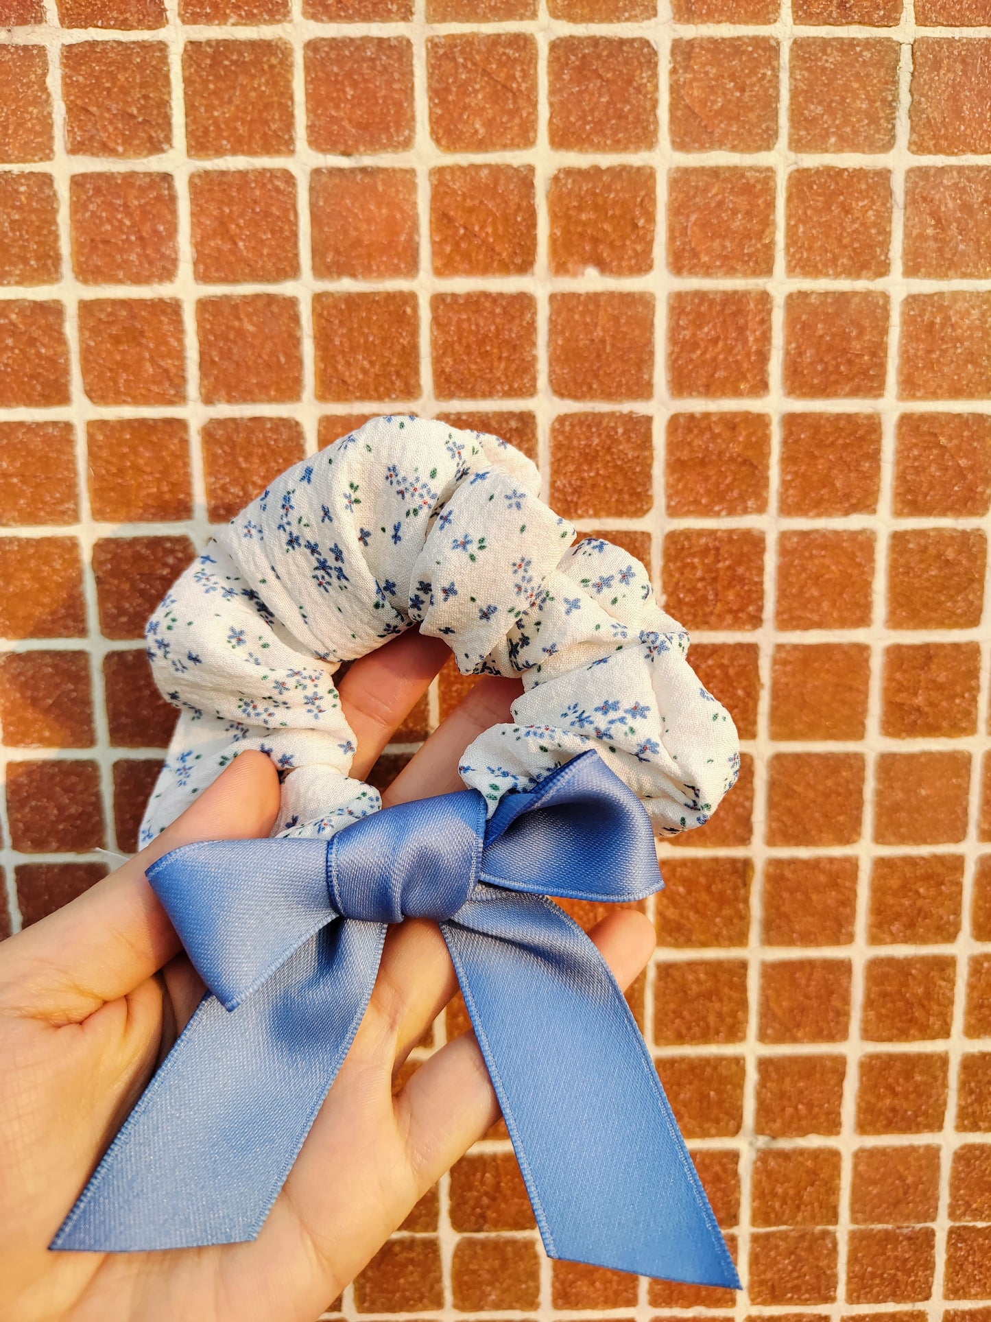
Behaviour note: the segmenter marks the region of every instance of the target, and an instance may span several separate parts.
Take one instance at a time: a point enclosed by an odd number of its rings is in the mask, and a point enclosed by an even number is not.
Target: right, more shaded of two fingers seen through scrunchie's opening
[[[521,695],[518,680],[482,676],[451,715],[433,731],[382,796],[386,808],[428,795],[464,789],[457,773],[461,754],[489,726],[510,720],[510,705]]]

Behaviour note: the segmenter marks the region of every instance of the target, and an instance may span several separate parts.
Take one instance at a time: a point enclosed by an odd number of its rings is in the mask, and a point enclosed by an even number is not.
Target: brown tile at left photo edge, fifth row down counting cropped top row
[[[79,517],[70,422],[0,422],[0,526]]]

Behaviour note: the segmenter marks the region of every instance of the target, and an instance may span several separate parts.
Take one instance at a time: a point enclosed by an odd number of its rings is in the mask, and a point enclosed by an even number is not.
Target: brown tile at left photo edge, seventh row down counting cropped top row
[[[0,720],[8,747],[91,748],[89,653],[8,652],[0,658]]]

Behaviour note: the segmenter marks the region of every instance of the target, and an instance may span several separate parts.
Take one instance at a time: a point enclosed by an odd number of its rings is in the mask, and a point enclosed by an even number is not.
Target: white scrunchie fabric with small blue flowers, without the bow
[[[283,473],[178,579],[145,633],[182,709],[141,824],[153,839],[244,748],[285,775],[274,836],[328,836],[382,806],[332,676],[412,624],[464,674],[522,677],[514,724],[459,771],[493,812],[593,747],[675,834],[707,821],[740,765],[728,713],[686,661],[643,566],[536,496],[495,436],[377,418]]]

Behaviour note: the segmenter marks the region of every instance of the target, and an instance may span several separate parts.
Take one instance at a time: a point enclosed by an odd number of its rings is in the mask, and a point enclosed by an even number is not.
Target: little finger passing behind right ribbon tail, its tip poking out
[[[622,988],[646,966],[654,949],[651,923],[633,910],[610,914],[589,936]],[[474,1034],[456,1038],[420,1066],[395,1104],[410,1159],[427,1190],[499,1114]]]

